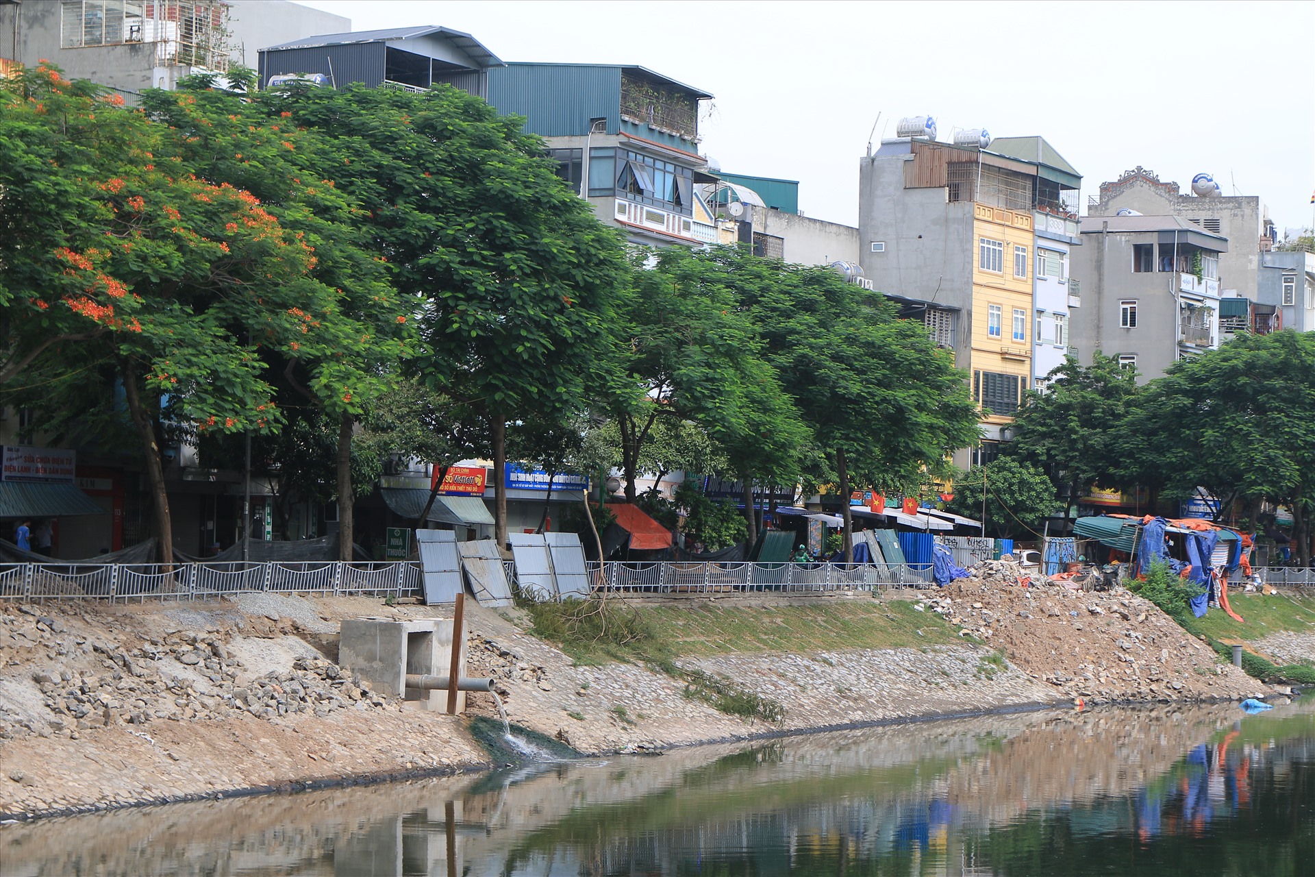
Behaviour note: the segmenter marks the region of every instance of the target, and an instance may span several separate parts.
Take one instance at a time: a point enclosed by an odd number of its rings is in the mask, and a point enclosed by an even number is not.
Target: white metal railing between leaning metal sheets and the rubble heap
[[[878,590],[931,580],[930,564],[592,560],[585,567],[596,593],[621,596]]]

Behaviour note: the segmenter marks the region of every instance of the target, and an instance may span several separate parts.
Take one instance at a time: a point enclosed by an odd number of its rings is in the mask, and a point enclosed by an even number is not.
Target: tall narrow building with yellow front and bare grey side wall
[[[992,459],[1034,385],[1036,217],[1072,221],[1076,204],[1068,193],[1080,183],[1040,138],[1011,138],[1006,146],[1018,154],[1036,150],[1041,159],[919,138],[885,141],[860,159],[864,275],[953,348],[981,405],[982,446],[972,455],[957,452],[960,467]],[[1076,237],[1066,231],[1061,226],[1057,235]],[[1068,246],[1045,241],[1056,251]],[[1063,300],[1047,298],[1061,312],[1068,302],[1066,292]]]

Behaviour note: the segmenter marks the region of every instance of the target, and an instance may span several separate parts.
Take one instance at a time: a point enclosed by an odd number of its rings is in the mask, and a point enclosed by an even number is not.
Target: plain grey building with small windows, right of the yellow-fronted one
[[[1145,383],[1178,359],[1219,346],[1219,266],[1228,241],[1176,216],[1082,220],[1080,362],[1118,356]]]

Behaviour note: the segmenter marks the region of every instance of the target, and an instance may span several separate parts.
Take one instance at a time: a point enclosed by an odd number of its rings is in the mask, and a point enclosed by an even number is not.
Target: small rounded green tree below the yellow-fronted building
[[[1009,456],[997,458],[985,467],[974,465],[957,476],[955,498],[945,508],[968,518],[980,518],[984,494],[985,531],[993,530],[1002,539],[1036,534],[1041,522],[1060,509],[1055,485],[1040,467]]]

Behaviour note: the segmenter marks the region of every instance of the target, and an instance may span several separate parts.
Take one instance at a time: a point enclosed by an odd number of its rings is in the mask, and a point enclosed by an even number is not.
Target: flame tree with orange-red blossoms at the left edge
[[[93,367],[122,384],[168,561],[160,421],[277,429],[263,350],[322,363],[310,383],[342,405],[358,373],[334,366],[341,295],[306,235],[118,103],[46,63],[0,91],[0,388],[57,406]]]

